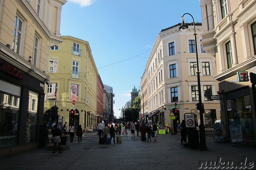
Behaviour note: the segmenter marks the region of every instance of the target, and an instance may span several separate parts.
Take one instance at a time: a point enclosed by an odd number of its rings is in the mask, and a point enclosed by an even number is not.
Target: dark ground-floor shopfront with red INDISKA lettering
[[[38,147],[47,75],[27,61],[0,53],[1,159]]]

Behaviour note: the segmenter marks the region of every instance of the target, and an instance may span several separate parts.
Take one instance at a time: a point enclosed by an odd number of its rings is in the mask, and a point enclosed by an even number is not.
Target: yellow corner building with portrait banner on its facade
[[[64,41],[49,52],[47,74],[50,83],[45,88],[44,123],[49,124],[54,119],[49,116],[49,111],[55,105],[54,93],[57,92],[56,106],[59,107],[58,114],[63,116],[63,123],[73,123],[75,128],[81,124],[87,131],[89,126],[97,126],[96,85],[99,73],[87,41],[71,36],[61,38]]]

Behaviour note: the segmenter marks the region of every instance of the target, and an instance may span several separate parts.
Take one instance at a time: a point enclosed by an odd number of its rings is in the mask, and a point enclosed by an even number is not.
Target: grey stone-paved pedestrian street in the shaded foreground
[[[207,163],[208,161],[222,161],[222,163],[232,161],[233,169],[239,169],[240,166],[241,169],[248,169],[248,167],[256,169],[255,147],[233,147],[231,143],[214,143],[212,136],[206,136],[208,151],[199,151],[199,149],[184,148],[180,144],[180,134],[159,134],[157,141],[152,138],[151,142],[141,141],[137,136],[131,138],[129,135],[123,136],[122,143],[118,144],[114,144],[112,139],[110,145],[99,144],[99,136],[96,133],[86,133],[82,143],[78,143],[77,136],[74,138],[74,143],[69,143],[68,136],[67,145],[70,149],[63,153],[52,153],[46,148],[39,148],[0,159],[0,167],[3,170],[194,170],[199,169],[199,161]],[[247,159],[245,160],[244,157]],[[253,165],[251,165],[252,162]],[[227,162],[222,165],[224,164],[226,168],[231,169],[231,165],[227,165]],[[217,166],[211,169],[217,169]],[[245,166],[247,168],[243,168]],[[201,167],[200,169],[203,169],[206,165]],[[207,164],[206,169],[208,168],[210,164]]]

